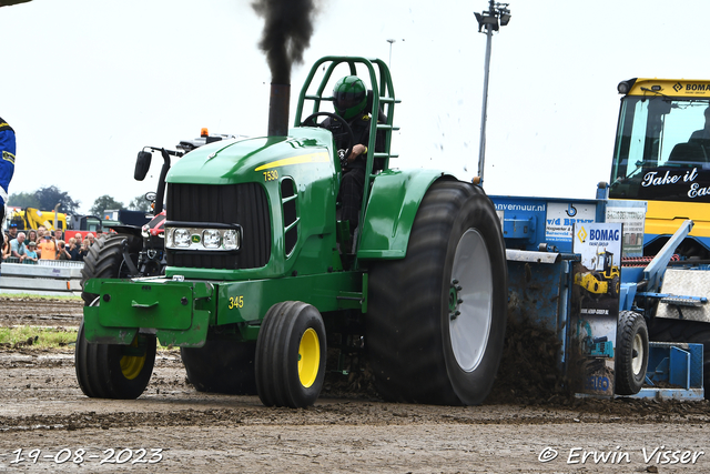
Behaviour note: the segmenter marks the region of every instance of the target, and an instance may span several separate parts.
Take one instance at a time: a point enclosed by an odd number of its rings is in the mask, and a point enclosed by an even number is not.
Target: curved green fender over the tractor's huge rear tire
[[[422,199],[439,179],[455,180],[442,171],[426,169],[386,170],[377,174],[361,225],[357,258],[404,259]]]

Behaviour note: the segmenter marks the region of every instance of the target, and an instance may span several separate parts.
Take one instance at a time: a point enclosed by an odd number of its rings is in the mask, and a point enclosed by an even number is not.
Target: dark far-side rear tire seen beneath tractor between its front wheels
[[[255,395],[256,343],[219,340],[207,335],[202,347],[181,347],[187,380],[199,392]]]

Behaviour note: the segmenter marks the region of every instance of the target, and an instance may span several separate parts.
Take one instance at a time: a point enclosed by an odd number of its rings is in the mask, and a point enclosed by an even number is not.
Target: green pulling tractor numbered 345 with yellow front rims
[[[334,71],[358,69],[374,91],[367,113],[379,120],[371,121],[352,234],[341,219],[336,140],[315,119],[345,122],[322,111],[333,102],[326,87]],[[288,87],[272,85],[271,100],[267,137],[205,144],[171,168],[164,275],[85,282],[75,350],[83,393],[140,396],[159,340],[181,347],[197,390],[255,393],[267,406],[315,403],[328,344],[364,351],[387,401],[480,403],[507,316],[491,201],[440,171],[389,169],[398,100],[381,60],[318,60],[291,129]],[[106,265],[121,274],[115,255]]]

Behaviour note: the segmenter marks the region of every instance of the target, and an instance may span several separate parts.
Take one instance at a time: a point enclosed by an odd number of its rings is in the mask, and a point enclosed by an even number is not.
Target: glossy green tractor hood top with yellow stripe
[[[235,184],[267,181],[265,172],[307,163],[333,167],[333,138],[317,128],[295,128],[288,137],[222,140],[185,154],[166,177],[169,183]],[[283,174],[283,173],[281,173]]]

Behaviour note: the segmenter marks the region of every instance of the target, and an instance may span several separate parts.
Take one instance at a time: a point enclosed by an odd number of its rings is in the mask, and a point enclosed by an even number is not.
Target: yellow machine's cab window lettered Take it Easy
[[[660,94],[626,97],[610,198],[710,202],[709,102]]]

